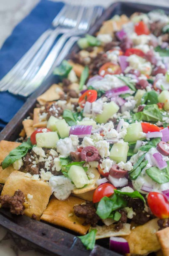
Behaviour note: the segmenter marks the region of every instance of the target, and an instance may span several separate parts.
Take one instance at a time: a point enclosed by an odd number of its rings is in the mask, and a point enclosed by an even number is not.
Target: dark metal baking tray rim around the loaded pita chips
[[[133,12],[149,12],[153,9],[163,9],[169,14],[169,8],[159,7],[154,5],[136,4],[131,2],[116,2],[107,8],[102,17],[94,24],[89,31],[89,34],[95,34],[101,27],[104,20],[112,18],[115,14],[126,14],[130,16]],[[78,51],[78,46],[72,47],[72,51]],[[66,59],[69,59],[70,53]],[[36,98],[46,91],[53,83],[57,83],[57,77],[51,75],[46,79],[43,84],[27,99],[23,107],[17,112],[12,120],[0,133],[0,140],[15,141],[22,128],[22,120],[26,118],[36,104]],[[20,239],[26,239],[33,246],[41,248],[51,255],[58,256],[120,256],[115,252],[109,251],[104,248],[104,241],[97,241],[95,248],[92,251],[88,251],[81,244],[79,239],[75,238],[75,233],[68,229],[56,227],[44,222],[38,222],[27,216],[14,216],[8,212],[8,210],[0,209],[0,225],[12,232],[13,235],[17,235]]]

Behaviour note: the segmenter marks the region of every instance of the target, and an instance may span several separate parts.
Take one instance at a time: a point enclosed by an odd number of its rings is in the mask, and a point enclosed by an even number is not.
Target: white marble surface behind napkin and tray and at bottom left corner
[[[57,1],[57,0],[55,0]],[[154,5],[169,7],[169,0],[130,0],[131,2],[142,2]],[[5,39],[11,34],[14,27],[34,8],[39,0],[0,0],[0,47]],[[64,2],[79,4],[79,0],[65,0]],[[83,0],[84,5],[104,5],[109,6],[113,0]],[[127,1],[126,1],[127,2]],[[7,237],[7,231],[0,227],[0,256],[42,256],[35,251],[20,251],[14,241]],[[4,238],[4,239],[3,239]],[[45,254],[47,255],[47,254]],[[67,256],[67,255],[65,255]]]

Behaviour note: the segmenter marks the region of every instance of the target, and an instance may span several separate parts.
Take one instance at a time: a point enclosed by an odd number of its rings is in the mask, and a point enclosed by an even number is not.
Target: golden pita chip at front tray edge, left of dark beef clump
[[[53,196],[42,214],[41,219],[85,235],[90,225],[83,226],[84,218],[78,218],[73,210],[75,204],[84,202],[84,200],[72,196],[69,196],[68,199],[64,201],[60,201]]]

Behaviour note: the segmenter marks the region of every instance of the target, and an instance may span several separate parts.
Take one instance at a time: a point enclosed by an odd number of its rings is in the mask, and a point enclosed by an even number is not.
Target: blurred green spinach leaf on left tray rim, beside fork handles
[[[60,66],[54,69],[53,74],[59,75],[60,79],[66,78],[69,72],[72,70],[72,66],[69,64],[67,60],[63,60]]]

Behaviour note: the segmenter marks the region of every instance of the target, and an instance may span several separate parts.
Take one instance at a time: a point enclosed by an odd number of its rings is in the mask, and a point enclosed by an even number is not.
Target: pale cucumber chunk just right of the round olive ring
[[[113,144],[111,150],[110,150],[110,158],[117,163],[127,161],[127,153],[128,153],[128,143],[122,142],[122,143],[115,143]]]

